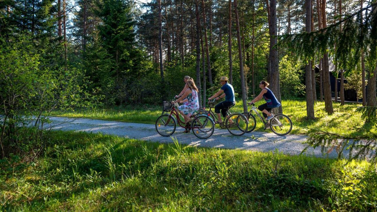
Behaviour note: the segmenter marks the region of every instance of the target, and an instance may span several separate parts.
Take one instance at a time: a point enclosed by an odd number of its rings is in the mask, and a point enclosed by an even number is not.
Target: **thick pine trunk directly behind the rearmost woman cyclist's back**
[[[277,28],[276,28],[276,0],[270,1],[270,89],[276,96],[277,100],[281,102],[280,97],[280,83],[279,83],[279,54],[275,45],[277,44]],[[274,113],[282,113],[282,107],[273,109]]]

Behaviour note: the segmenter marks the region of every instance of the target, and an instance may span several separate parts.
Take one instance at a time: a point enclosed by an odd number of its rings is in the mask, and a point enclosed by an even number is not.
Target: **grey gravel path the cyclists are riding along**
[[[103,134],[118,135],[121,137],[137,138],[147,141],[158,141],[161,143],[173,143],[172,138],[162,137],[156,132],[154,124],[125,123],[119,121],[92,120],[87,118],[64,118],[51,117],[52,129],[101,132]],[[177,127],[173,137],[179,143],[189,144],[198,147],[219,147],[226,149],[245,149],[261,152],[275,151],[287,155],[298,155],[305,147],[302,142],[306,141],[305,135],[277,136],[267,129],[265,132],[251,132],[242,136],[233,136],[226,129],[215,129],[213,135],[208,139],[198,139],[192,132],[183,133],[184,129]],[[310,148],[307,155],[324,157],[320,148]],[[329,157],[336,157],[335,151]],[[326,156],[327,157],[327,156]]]

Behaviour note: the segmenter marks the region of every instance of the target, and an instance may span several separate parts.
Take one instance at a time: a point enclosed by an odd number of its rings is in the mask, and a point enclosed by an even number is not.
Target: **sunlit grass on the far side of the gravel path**
[[[257,105],[263,104],[259,101]],[[340,103],[333,103],[334,114],[328,115],[325,112],[325,103],[317,102],[314,106],[316,120],[308,121],[306,119],[306,101],[305,100],[283,100],[283,113],[288,115],[293,122],[292,134],[305,134],[307,128],[321,129],[324,131],[337,134],[363,134],[366,130],[371,130],[371,126],[364,124],[361,113],[356,112],[356,108],[361,104],[346,104],[341,106]],[[237,101],[236,105],[231,108],[232,112],[241,112],[242,101]],[[113,109],[94,109],[78,110],[72,113],[54,112],[55,115],[64,117],[86,117],[92,119],[101,119],[109,121],[124,121],[133,123],[155,124],[156,119],[161,115],[161,106],[127,106],[126,108]],[[262,121],[256,117],[257,131],[263,131]],[[364,128],[358,131],[355,128]]]

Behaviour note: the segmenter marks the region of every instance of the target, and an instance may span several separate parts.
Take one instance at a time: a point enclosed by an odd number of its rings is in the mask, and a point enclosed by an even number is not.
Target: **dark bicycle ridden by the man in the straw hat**
[[[218,121],[217,115],[212,111],[212,108],[215,107],[215,99],[214,98],[212,101],[208,101],[208,105],[210,109],[207,110],[202,110],[199,111],[198,114],[202,115],[207,115],[208,117],[211,117],[212,120]],[[228,129],[230,134],[232,135],[243,135],[248,129],[248,121],[245,115],[235,112],[235,113],[230,113],[229,109],[233,107],[234,105],[230,106],[227,108],[227,117],[224,117],[222,120],[222,123],[219,123],[220,128],[222,129]]]

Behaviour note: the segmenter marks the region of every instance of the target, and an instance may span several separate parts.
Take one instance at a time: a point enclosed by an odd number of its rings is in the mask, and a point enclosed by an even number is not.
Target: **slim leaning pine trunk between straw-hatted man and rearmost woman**
[[[245,75],[244,75],[244,65],[242,60],[242,46],[241,46],[241,33],[239,31],[239,18],[238,18],[238,9],[237,9],[237,0],[234,0],[234,14],[236,15],[236,31],[237,31],[237,41],[238,41],[238,56],[239,56],[239,72],[241,75],[241,91],[242,91],[242,103],[244,106],[244,112],[247,112],[247,97],[246,97],[246,88],[245,88]]]

